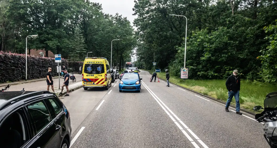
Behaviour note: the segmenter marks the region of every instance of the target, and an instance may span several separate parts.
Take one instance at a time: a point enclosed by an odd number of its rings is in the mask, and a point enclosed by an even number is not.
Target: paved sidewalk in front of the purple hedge
[[[71,82],[71,80],[69,80],[69,87],[75,86],[75,84],[76,84],[76,87],[77,87],[77,84],[81,85],[82,75],[79,75],[77,73],[77,74],[74,74],[74,76],[76,78],[76,82]],[[64,79],[60,78],[60,86],[63,85],[63,81],[64,81]],[[4,86],[7,86],[8,84],[11,85],[11,87],[9,88],[8,91],[20,91],[23,88],[24,88],[25,91],[47,90],[46,78],[28,80],[28,81],[23,81],[23,82],[20,81],[20,82],[16,82],[16,83],[13,83],[13,82],[12,83],[1,83],[0,88],[4,88]],[[58,79],[58,77],[53,79],[53,85],[54,85],[54,90],[55,91],[61,91],[61,90],[58,89],[59,88],[59,79]],[[51,86],[49,88],[49,91],[52,92]],[[66,92],[66,91],[63,91],[63,92]]]

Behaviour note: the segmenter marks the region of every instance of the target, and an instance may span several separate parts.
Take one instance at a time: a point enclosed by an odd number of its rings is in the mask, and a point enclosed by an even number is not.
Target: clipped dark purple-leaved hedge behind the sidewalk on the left
[[[0,83],[6,81],[25,80],[25,54],[0,52]],[[66,59],[61,60],[61,65],[68,66]],[[27,79],[45,78],[48,68],[52,68],[53,76],[57,76],[58,63],[50,57],[27,57]]]

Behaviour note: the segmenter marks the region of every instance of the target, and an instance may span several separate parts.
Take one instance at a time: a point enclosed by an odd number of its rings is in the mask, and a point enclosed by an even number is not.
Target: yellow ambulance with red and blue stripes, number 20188
[[[84,90],[92,87],[103,87],[108,90],[112,83],[108,60],[99,57],[86,57],[83,65],[82,83]]]

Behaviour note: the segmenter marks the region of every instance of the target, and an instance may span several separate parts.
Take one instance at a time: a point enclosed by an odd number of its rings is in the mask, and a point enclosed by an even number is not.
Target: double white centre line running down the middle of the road
[[[181,119],[179,119],[174,113],[173,111],[171,111],[162,101],[160,98],[158,98],[157,95],[155,95],[155,93],[153,93],[152,90],[150,90],[150,88],[148,88],[148,86],[145,85],[145,83],[142,81],[142,85],[147,89],[147,91],[153,96],[153,98],[158,102],[158,104],[160,104],[160,106],[164,109],[164,111],[167,114],[172,114],[193,136],[196,140],[199,140],[199,137],[196,136],[196,134],[194,134],[189,128],[188,126],[186,126],[186,124],[183,123],[183,121],[181,121]],[[158,101],[159,100],[159,101]],[[162,105],[163,104],[163,105]],[[165,106],[166,109],[168,109],[168,111],[170,111],[170,113],[163,107]],[[193,144],[194,147],[199,148],[199,146],[193,141],[193,139],[189,136],[189,134],[184,131],[184,129],[180,126],[180,124],[178,124],[178,122],[171,116],[168,115],[172,121],[178,126],[178,128],[183,132],[183,134],[188,138],[189,141],[191,141],[191,143]],[[202,141],[201,141],[202,142]],[[204,143],[203,143],[204,144]],[[206,146],[206,145],[205,145]]]

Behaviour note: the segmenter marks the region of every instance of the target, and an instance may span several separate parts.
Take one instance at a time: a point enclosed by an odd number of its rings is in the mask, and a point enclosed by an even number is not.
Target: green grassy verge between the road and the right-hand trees
[[[146,70],[152,73],[152,70]],[[158,73],[159,78],[165,80],[165,72]],[[211,96],[222,101],[227,101],[228,91],[225,86],[226,80],[181,80],[170,76],[171,83],[174,83],[185,88],[197,91],[204,95]],[[253,106],[260,105],[263,106],[263,101],[265,95],[277,91],[277,86],[261,83],[261,82],[251,82],[247,80],[241,80],[240,86],[240,107],[253,111]],[[235,105],[235,99],[232,99],[231,104]]]

